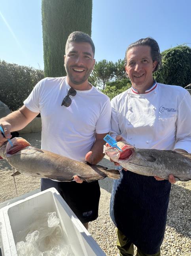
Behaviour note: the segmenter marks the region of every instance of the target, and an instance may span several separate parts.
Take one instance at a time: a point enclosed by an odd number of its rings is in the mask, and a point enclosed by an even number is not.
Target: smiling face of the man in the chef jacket
[[[125,70],[129,75],[132,86],[139,93],[144,93],[153,85],[153,71],[157,61],[151,58],[150,46],[135,46],[127,52],[127,65]]]

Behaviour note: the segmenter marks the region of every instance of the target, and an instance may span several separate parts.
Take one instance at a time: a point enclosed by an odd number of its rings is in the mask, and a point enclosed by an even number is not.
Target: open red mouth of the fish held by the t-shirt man
[[[26,148],[27,146],[30,146],[30,143],[21,137],[15,137],[11,139],[11,142],[13,146],[11,146],[9,142],[7,143],[7,146],[6,146],[7,156],[13,155],[18,151],[20,151],[21,149]]]

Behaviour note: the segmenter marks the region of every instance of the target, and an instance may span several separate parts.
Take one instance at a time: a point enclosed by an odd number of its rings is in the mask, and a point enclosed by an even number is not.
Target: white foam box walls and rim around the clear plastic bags
[[[106,256],[55,188],[38,192],[0,209],[2,256],[17,256],[16,234],[30,224],[32,216],[39,210],[56,212],[75,256]]]

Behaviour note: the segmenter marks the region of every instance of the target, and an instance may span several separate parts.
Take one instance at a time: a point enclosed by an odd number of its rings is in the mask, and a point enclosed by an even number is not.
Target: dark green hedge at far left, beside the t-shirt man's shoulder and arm
[[[11,111],[18,110],[36,83],[43,78],[43,70],[0,60],[0,100]]]

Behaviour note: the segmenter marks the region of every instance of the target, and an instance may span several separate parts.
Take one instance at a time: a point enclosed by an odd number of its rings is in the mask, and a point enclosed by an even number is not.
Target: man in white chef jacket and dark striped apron
[[[112,99],[110,135],[136,148],[191,152],[191,95],[180,86],[153,79],[161,54],[153,38],[143,38],[125,53],[125,70],[132,87]],[[170,181],[170,182],[169,182]],[[110,215],[117,227],[122,256],[159,256],[163,242],[171,183],[121,170],[115,180]]]

